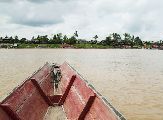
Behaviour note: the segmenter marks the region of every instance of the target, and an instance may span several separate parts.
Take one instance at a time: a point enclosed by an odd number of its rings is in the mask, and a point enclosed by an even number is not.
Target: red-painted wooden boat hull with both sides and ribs
[[[69,120],[125,120],[69,64],[59,68],[61,94],[54,95],[52,66],[46,63],[0,103],[0,120],[42,120],[56,105],[63,105]]]

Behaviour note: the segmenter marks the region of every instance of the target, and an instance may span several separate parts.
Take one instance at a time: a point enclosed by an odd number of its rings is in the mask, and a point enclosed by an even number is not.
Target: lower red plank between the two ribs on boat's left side
[[[22,120],[42,120],[48,107],[49,105],[36,89],[31,97],[28,98],[16,112]]]

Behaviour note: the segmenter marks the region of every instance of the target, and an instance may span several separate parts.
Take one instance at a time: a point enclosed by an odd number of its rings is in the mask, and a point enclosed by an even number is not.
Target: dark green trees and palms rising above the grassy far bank
[[[32,39],[28,40],[26,38],[19,39],[18,36],[15,37],[8,37],[5,36],[0,37],[0,43],[20,43],[20,44],[97,44],[97,45],[103,45],[103,46],[111,46],[113,48],[123,48],[126,46],[133,47],[142,47],[144,44],[146,45],[157,45],[162,46],[163,41],[142,41],[140,37],[131,35],[129,33],[124,33],[123,36],[121,36],[118,33],[112,33],[109,34],[104,40],[99,41],[98,35],[95,35],[92,37],[92,40],[84,40],[84,39],[78,39],[78,32],[75,31],[75,33],[71,37],[67,37],[67,35],[63,35],[62,33],[54,34],[51,38],[48,37],[48,35],[37,37],[32,37]]]

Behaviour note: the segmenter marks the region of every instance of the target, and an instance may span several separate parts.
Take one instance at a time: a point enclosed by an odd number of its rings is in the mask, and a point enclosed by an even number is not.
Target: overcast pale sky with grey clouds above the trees
[[[63,33],[99,40],[131,33],[142,40],[163,39],[163,0],[0,0],[0,36]]]

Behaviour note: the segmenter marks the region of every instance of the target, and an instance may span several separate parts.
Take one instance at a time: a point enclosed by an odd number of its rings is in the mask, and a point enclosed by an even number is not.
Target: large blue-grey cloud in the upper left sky
[[[40,1],[40,0],[39,0]],[[15,6],[12,11],[9,8]],[[17,2],[3,6],[2,15],[9,17],[8,23],[21,24],[26,26],[45,26],[58,24],[63,21],[60,13],[56,12],[57,7],[51,3],[33,4],[28,2]],[[53,14],[53,11],[56,13]],[[5,13],[5,14],[4,14]],[[15,13],[15,14],[14,14]]]

